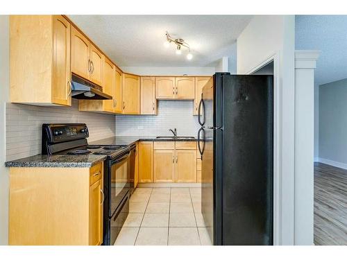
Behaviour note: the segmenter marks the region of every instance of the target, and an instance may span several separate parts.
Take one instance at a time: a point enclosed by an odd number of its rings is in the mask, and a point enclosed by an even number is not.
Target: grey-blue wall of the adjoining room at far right
[[[319,86],[319,162],[347,168],[347,78]]]

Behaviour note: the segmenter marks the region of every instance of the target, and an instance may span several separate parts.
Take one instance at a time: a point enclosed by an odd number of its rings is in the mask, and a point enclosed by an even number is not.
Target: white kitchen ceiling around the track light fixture
[[[233,53],[232,44],[251,15],[69,15],[120,67],[211,67]],[[191,47],[176,55],[164,47],[165,31]]]

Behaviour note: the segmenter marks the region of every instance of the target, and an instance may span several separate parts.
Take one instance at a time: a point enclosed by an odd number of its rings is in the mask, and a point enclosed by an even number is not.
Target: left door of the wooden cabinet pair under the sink
[[[174,150],[154,150],[154,182],[174,182]]]

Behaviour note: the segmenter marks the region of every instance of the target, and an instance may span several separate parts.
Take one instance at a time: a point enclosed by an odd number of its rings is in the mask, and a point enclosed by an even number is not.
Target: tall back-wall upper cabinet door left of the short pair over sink
[[[155,78],[141,77],[141,114],[156,114]]]

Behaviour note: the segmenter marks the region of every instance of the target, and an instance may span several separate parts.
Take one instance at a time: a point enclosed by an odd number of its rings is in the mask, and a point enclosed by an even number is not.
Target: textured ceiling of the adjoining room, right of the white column
[[[319,50],[314,80],[319,85],[347,78],[347,15],[296,15],[297,50]]]

